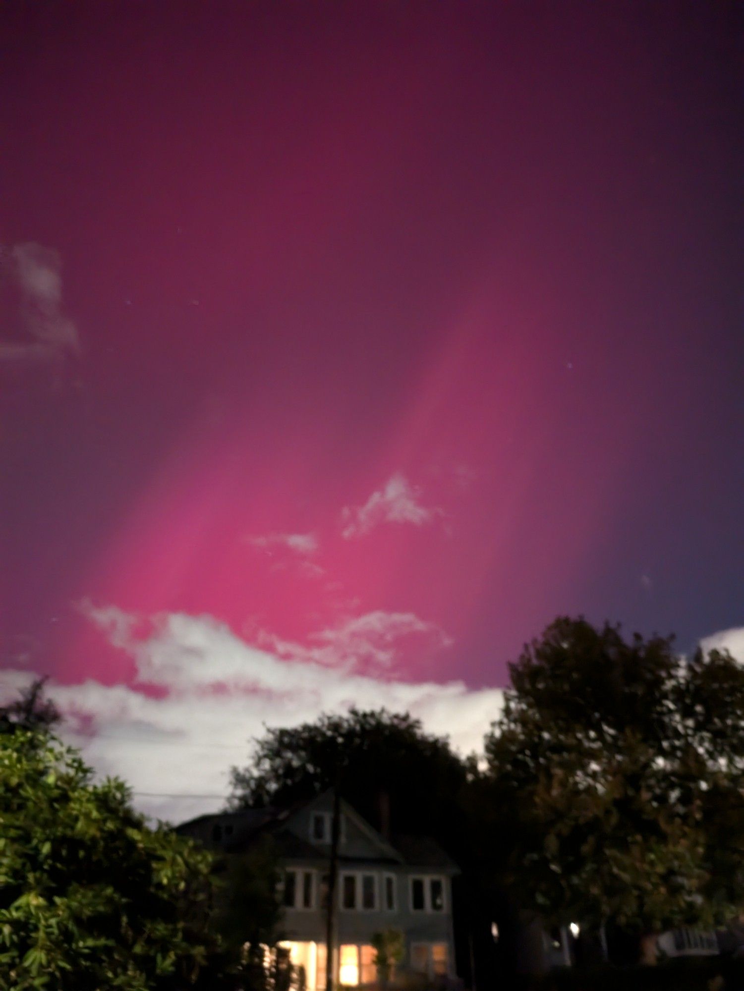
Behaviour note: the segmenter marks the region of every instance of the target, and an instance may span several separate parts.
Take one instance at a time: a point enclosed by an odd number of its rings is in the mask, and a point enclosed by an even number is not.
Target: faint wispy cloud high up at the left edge
[[[23,338],[0,341],[0,361],[49,361],[77,355],[74,323],[62,312],[62,257],[35,242],[3,250],[4,269],[20,293]]]

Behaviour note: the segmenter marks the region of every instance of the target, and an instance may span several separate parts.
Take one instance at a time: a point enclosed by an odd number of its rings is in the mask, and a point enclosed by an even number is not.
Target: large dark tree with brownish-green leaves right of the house
[[[510,875],[551,921],[710,925],[744,898],[744,670],[560,618],[486,738]]]

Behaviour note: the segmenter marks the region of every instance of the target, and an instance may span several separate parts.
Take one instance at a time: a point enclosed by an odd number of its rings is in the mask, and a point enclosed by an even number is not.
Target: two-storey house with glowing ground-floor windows
[[[332,794],[292,810],[201,816],[177,830],[206,845],[239,853],[271,832],[284,870],[284,933],[292,960],[305,968],[309,991],[325,987]],[[454,978],[451,879],[454,862],[424,836],[386,839],[346,802],[340,804],[333,971],[344,986],[374,984],[372,936],[397,930],[403,969],[429,983]]]

